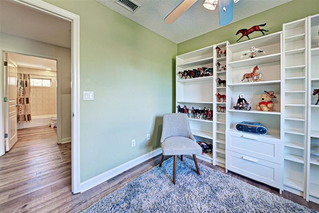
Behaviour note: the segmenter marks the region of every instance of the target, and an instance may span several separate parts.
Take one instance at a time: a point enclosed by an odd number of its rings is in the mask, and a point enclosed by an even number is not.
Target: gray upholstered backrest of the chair
[[[163,115],[161,143],[172,136],[192,137],[187,114],[171,113]]]

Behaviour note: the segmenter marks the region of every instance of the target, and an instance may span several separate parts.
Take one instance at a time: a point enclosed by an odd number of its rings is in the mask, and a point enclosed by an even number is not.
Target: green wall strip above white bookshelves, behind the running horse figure
[[[259,0],[260,1],[260,0]],[[253,4],[253,1],[251,1]],[[240,3],[238,3],[240,4]],[[217,11],[213,11],[217,12]],[[178,55],[184,54],[196,49],[204,48],[213,44],[228,40],[231,44],[236,43],[240,35],[235,35],[239,29],[250,28],[254,25],[267,23],[263,29],[269,30],[267,34],[276,33],[282,30],[282,24],[294,20],[305,18],[319,13],[318,0],[294,0],[286,4],[263,11],[248,18],[236,21],[209,33],[197,36],[196,38],[184,41],[177,45]],[[262,35],[260,32],[254,32],[249,36],[255,38]],[[242,38],[240,41],[246,40]]]

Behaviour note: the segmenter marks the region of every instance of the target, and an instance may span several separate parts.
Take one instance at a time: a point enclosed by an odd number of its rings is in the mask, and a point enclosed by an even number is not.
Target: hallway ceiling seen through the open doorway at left
[[[71,22],[0,0],[1,32],[71,48]]]

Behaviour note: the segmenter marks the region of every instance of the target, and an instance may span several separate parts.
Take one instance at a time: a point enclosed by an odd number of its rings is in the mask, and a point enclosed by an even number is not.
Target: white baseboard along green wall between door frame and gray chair
[[[111,170],[108,170],[102,174],[99,174],[89,180],[85,180],[84,182],[80,183],[80,192],[84,192],[92,187],[95,187],[99,185],[100,183],[103,183],[104,181],[113,178],[114,176],[121,174],[122,172],[125,172],[126,170],[143,163],[144,161],[151,159],[159,154],[162,153],[162,149],[158,148],[154,151],[151,151],[149,153],[146,153],[145,155],[142,155],[138,158],[135,158],[133,160],[130,160],[129,162],[119,165]]]

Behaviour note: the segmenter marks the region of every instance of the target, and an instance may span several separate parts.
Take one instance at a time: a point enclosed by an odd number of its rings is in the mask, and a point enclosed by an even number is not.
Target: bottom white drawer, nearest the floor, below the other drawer
[[[226,169],[276,188],[282,186],[280,164],[226,150]]]

